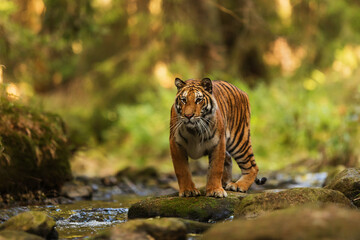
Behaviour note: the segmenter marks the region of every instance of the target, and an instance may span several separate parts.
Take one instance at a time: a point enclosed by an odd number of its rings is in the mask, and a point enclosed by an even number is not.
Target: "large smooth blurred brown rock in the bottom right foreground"
[[[335,205],[279,210],[256,220],[216,224],[203,239],[360,239],[360,213]]]

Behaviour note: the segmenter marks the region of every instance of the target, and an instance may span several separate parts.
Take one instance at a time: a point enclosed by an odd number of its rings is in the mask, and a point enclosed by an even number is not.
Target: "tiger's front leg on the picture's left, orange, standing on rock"
[[[181,148],[174,139],[170,139],[170,151],[179,184],[179,196],[200,196],[200,191],[196,189],[195,184],[191,179],[189,160],[185,150]]]

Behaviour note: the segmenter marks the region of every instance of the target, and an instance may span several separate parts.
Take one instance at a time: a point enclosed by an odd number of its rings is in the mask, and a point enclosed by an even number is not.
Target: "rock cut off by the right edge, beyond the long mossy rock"
[[[342,192],[353,203],[360,207],[360,169],[348,168],[337,174],[325,186],[327,189],[333,189]]]

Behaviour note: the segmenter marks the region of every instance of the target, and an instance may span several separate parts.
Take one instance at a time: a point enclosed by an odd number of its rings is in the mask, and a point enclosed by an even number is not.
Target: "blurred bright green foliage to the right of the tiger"
[[[252,142],[265,168],[277,169],[309,158],[331,165],[356,164],[360,92],[355,90],[349,102],[336,94],[350,89],[334,82],[331,75],[327,81],[312,91],[284,79],[248,91]],[[358,82],[355,78],[348,81]]]

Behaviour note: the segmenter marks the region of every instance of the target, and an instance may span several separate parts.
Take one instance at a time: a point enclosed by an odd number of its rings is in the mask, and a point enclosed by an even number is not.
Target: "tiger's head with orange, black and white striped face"
[[[208,126],[215,113],[216,103],[212,97],[212,82],[209,78],[182,81],[175,79],[178,89],[175,109],[179,120],[187,128]]]

